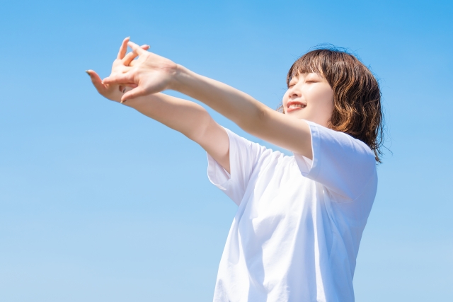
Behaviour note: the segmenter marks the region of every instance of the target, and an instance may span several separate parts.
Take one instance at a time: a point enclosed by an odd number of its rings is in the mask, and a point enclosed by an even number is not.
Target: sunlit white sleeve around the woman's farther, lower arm
[[[260,144],[248,141],[243,137],[226,129],[229,137],[229,164],[230,172],[217,163],[207,153],[207,177],[213,185],[222,190],[237,205],[241,204],[246,192],[248,181],[256,168],[260,155],[266,150]]]

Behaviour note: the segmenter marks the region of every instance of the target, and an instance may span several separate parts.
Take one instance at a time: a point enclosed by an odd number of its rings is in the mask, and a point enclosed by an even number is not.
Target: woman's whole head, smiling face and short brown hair
[[[384,115],[379,83],[360,60],[336,47],[311,50],[292,64],[277,108],[363,141],[380,162]]]

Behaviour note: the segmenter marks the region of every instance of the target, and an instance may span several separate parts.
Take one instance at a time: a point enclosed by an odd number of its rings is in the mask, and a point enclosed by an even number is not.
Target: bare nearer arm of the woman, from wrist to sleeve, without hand
[[[312,158],[310,128],[304,120],[282,115],[225,83],[177,68],[173,89],[200,100],[255,137]]]

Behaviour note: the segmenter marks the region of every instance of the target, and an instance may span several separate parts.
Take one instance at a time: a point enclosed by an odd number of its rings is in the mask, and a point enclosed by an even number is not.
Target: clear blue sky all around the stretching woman
[[[277,108],[348,47],[387,137],[356,301],[453,301],[452,1],[2,1],[0,300],[210,301],[236,205],[183,135],[98,95],[124,37]],[[212,110],[210,110],[212,112]],[[253,141],[212,112],[224,127]]]

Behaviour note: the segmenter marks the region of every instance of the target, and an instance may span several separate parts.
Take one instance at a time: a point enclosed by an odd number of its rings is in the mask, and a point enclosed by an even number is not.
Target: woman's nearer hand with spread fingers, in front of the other
[[[123,45],[124,43],[123,41]],[[127,62],[127,60],[117,62],[118,64],[115,66],[117,72],[105,78],[103,80],[104,85],[120,85],[124,83],[131,87],[135,85],[135,88],[122,95],[122,101],[171,88],[173,75],[176,74],[178,67],[177,64],[157,54],[147,52],[133,42],[127,42],[127,45],[133,50],[131,57],[138,55],[139,58],[134,61],[133,66],[130,66],[133,58],[130,62]]]

